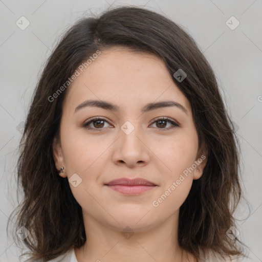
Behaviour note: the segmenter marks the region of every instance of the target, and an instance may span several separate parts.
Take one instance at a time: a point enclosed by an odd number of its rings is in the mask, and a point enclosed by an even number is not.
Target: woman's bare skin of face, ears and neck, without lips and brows
[[[152,202],[176,182],[201,155],[191,106],[173,82],[164,62],[151,54],[125,48],[103,51],[72,83],[63,101],[60,143],[53,144],[56,168],[63,178],[77,173],[82,182],[72,193],[82,207],[87,241],[75,248],[77,260],[115,262],[186,261],[178,245],[179,208],[193,179],[202,176],[203,161],[168,197],[154,207]],[[75,108],[88,99],[105,100],[119,112],[99,107]],[[164,107],[141,113],[149,102],[172,100],[186,108]],[[93,117],[105,119],[102,124]],[[179,123],[156,122],[169,117]],[[107,122],[106,122],[107,121]],[[121,126],[135,127],[126,134]],[[102,129],[99,132],[99,129]],[[143,178],[157,186],[138,195],[123,195],[105,186],[119,178]],[[134,235],[121,231],[128,226]],[[99,259],[99,260],[98,260]],[[195,261],[188,254],[188,261]]]

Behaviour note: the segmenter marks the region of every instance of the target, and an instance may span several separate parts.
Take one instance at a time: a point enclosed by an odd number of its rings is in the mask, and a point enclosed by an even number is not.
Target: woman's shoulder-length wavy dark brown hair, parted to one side
[[[193,181],[180,207],[180,247],[195,258],[200,250],[241,255],[241,242],[226,234],[235,226],[232,214],[242,195],[237,139],[214,72],[181,26],[144,8],[118,7],[97,18],[82,18],[70,28],[49,57],[34,91],[19,145],[17,181],[24,199],[16,220],[16,230],[24,226],[30,231],[24,243],[31,257],[47,261],[86,241],[81,206],[68,179],[58,176],[52,154],[67,90],[52,102],[48,98],[97,50],[117,46],[163,60],[189,100],[199,143],[207,148],[203,175]],[[187,74],[181,82],[173,77],[179,69]]]

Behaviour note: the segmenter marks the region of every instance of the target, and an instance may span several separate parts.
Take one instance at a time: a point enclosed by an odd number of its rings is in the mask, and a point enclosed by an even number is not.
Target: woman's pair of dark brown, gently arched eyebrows
[[[172,101],[172,100],[148,103],[142,107],[141,113],[149,112],[149,111],[156,110],[156,109],[163,108],[163,107],[171,107],[171,106],[176,106],[177,108],[179,108],[180,110],[182,110],[184,113],[188,115],[186,108],[182,104]],[[75,108],[75,113],[84,107],[99,107],[99,108],[103,108],[105,110],[110,110],[114,112],[120,111],[120,107],[118,105],[112,104],[107,101],[86,100]]]

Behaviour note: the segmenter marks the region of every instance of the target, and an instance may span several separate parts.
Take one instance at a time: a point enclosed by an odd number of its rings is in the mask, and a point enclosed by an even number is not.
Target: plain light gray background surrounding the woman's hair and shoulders
[[[171,18],[192,35],[210,62],[242,147],[242,184],[250,208],[242,201],[235,215],[240,236],[249,247],[247,261],[262,261],[261,0],[0,0],[0,261],[18,261],[19,250],[7,238],[6,225],[17,205],[15,164],[20,132],[43,63],[78,18],[99,14],[110,5],[145,5]],[[21,16],[30,21],[25,30],[16,25]],[[234,30],[226,24],[231,16],[240,23]]]

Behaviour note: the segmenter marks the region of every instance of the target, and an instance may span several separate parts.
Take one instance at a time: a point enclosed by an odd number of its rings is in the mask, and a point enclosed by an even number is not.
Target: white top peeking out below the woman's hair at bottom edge
[[[207,256],[207,258],[205,259],[204,257],[201,258],[199,260],[199,262],[222,262],[224,260],[222,260],[219,255],[216,255],[215,253],[213,253],[210,256]],[[226,259],[226,262],[230,261],[230,259]],[[75,254],[75,248],[71,248],[70,250],[68,250],[66,253],[52,259],[49,260],[48,262],[78,262],[76,259],[76,254]]]

